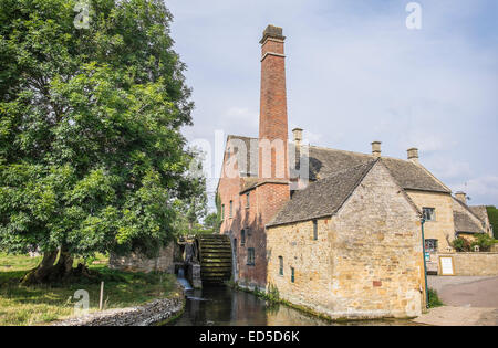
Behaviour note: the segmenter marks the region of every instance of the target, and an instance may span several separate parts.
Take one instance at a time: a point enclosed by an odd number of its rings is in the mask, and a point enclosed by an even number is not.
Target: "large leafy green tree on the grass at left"
[[[198,194],[172,14],[162,0],[85,3],[79,29],[74,0],[1,0],[0,250],[43,253],[27,284],[73,275],[74,256],[154,255],[175,202]]]

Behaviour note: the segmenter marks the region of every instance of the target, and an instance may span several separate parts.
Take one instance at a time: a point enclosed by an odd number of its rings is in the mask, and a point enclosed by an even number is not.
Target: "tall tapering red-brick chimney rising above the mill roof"
[[[261,43],[259,177],[289,179],[286,56],[282,28],[268,25]]]

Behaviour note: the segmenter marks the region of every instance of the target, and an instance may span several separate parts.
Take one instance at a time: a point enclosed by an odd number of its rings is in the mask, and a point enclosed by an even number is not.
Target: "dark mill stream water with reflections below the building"
[[[187,292],[185,313],[176,326],[322,326],[339,325],[283,305],[270,305],[227,286]],[[414,325],[406,320],[351,321],[342,325]]]

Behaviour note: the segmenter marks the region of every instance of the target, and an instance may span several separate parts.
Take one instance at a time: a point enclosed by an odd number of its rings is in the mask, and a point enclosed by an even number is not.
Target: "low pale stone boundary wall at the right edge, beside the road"
[[[455,266],[455,275],[498,275],[498,253],[448,253],[437,254],[452,256]],[[440,272],[439,272],[440,274]]]

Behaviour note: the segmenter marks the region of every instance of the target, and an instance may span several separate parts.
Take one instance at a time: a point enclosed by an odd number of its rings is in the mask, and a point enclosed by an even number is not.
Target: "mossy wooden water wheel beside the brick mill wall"
[[[203,283],[221,283],[231,277],[231,243],[228,235],[197,235]]]

